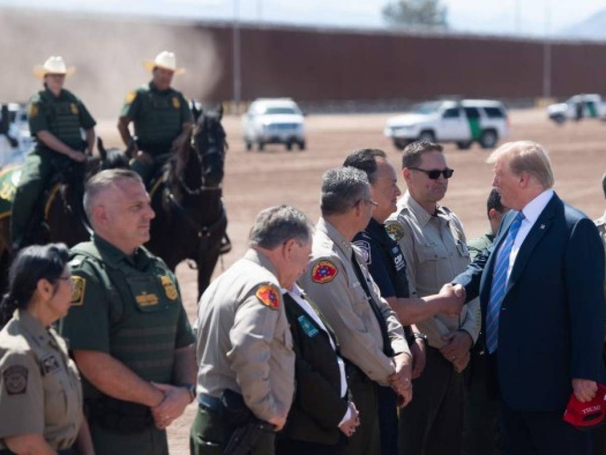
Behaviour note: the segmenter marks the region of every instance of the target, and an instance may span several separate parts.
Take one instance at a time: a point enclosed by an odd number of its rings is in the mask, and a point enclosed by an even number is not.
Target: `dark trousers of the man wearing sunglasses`
[[[427,348],[425,370],[413,379],[413,399],[400,409],[401,455],[461,452],[463,376],[435,348]]]

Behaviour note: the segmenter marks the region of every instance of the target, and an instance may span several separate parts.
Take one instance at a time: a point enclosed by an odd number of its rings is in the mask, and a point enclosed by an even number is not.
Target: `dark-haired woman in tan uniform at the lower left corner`
[[[64,244],[16,257],[0,303],[0,455],[94,455],[82,390],[51,325],[67,314],[72,278]]]

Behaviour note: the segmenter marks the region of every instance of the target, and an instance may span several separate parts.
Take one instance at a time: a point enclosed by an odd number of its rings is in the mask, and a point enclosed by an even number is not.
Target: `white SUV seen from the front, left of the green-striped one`
[[[256,99],[242,117],[244,146],[250,150],[257,144],[263,150],[265,144],[285,144],[291,150],[293,144],[305,149],[305,121],[299,106],[290,98]]]

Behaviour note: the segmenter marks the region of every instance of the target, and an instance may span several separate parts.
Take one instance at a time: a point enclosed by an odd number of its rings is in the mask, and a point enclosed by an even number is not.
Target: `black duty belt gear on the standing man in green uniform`
[[[147,406],[110,397],[86,400],[85,413],[91,423],[119,434],[140,433],[153,425]]]

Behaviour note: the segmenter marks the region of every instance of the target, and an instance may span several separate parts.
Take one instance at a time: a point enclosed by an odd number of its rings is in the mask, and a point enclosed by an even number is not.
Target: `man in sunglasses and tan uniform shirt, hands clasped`
[[[412,143],[404,149],[402,177],[408,191],[385,222],[385,229],[404,252],[411,297],[437,294],[470,262],[461,221],[438,204],[454,172],[442,150],[442,146],[428,142]],[[436,314],[416,323],[427,335],[427,360],[422,376],[413,380],[415,399],[400,413],[401,454],[461,451],[462,371],[478,339],[480,324],[478,302],[466,305],[454,317]]]

